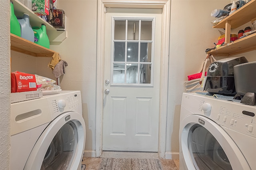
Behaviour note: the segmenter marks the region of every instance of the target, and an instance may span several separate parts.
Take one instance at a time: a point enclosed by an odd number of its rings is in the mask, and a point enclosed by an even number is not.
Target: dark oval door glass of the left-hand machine
[[[76,125],[69,121],[54,136],[44,156],[41,170],[68,170],[77,147]]]

